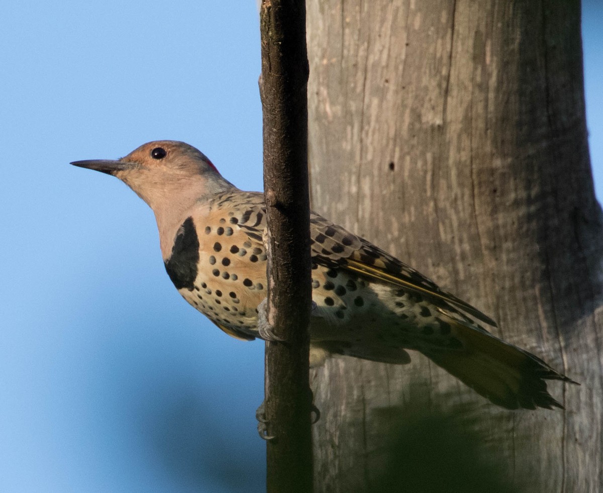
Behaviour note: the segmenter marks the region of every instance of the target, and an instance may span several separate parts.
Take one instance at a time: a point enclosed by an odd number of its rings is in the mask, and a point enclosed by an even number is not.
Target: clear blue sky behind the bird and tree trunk
[[[76,169],[148,140],[262,188],[253,1],[12,2],[0,31],[0,490],[262,491],[264,345],[180,298],[146,204]],[[603,2],[584,4],[603,196]]]

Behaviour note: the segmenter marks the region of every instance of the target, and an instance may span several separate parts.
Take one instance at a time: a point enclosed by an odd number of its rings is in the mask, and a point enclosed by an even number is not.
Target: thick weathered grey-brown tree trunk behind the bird
[[[603,489],[603,230],[579,2],[315,0],[308,52],[314,209],[581,383],[549,385],[565,411],[510,412],[418,354],[329,360],[311,374],[316,491],[369,489],[382,410],[411,399],[468,406],[517,488]]]

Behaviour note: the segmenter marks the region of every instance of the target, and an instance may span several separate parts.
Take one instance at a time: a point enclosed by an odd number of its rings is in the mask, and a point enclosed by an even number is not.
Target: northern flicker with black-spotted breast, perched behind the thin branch
[[[165,269],[188,303],[234,338],[259,336],[267,285],[262,193],[239,190],[183,142],[71,164],[119,178],[153,209]],[[545,381],[572,380],[488,333],[481,323],[496,324],[478,309],[316,213],[311,243],[311,355],[404,364],[406,350],[420,351],[499,406],[562,407]]]

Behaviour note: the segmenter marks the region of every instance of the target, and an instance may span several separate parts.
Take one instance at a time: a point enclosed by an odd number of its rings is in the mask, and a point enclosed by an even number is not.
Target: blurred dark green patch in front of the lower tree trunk
[[[486,450],[487,437],[476,432],[467,406],[426,406],[421,386],[411,388],[405,409],[382,408],[377,422],[391,427],[384,471],[371,491],[420,493],[520,493],[508,479],[504,460]],[[394,417],[395,416],[395,417]],[[502,454],[501,454],[502,455]]]

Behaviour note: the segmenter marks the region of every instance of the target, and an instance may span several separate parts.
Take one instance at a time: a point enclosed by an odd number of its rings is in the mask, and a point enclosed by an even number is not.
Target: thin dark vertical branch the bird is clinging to
[[[308,55],[303,0],[260,10],[268,221],[265,418],[268,492],[312,491],[309,335]]]

